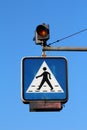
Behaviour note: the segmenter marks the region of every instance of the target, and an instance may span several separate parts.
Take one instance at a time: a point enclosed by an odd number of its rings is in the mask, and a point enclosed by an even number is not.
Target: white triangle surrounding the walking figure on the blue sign
[[[45,72],[45,74],[44,74],[44,72]],[[39,89],[39,86],[42,81],[43,81],[43,84],[42,84],[41,88]],[[50,87],[48,81],[50,82],[50,84],[53,87],[52,90],[51,90],[51,87]],[[42,63],[40,69],[38,70],[36,76],[34,77],[33,81],[31,82],[31,84],[29,85],[29,87],[26,91],[26,93],[36,93],[36,92],[64,93],[62,87],[56,80],[55,76],[53,75],[53,73],[51,72],[50,68],[48,67],[48,65],[45,61]]]

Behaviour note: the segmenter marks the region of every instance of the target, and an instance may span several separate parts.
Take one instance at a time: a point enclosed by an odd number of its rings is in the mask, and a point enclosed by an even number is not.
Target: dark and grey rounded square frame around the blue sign
[[[26,99],[24,97],[24,61],[26,59],[64,59],[66,62],[66,97],[64,99]],[[38,62],[37,62],[38,63]],[[37,93],[38,94],[38,93]],[[32,101],[61,101],[62,103],[66,103],[68,101],[68,62],[67,59],[63,56],[55,56],[55,57],[24,57],[21,60],[21,99],[23,103],[29,104]]]

